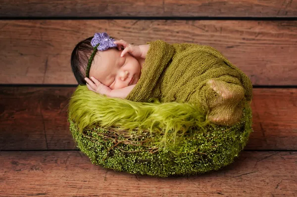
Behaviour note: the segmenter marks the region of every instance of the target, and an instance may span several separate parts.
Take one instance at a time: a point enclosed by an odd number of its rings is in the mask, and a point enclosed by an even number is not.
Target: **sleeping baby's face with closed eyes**
[[[141,66],[135,57],[126,53],[121,57],[116,48],[99,51],[93,60],[90,77],[95,77],[110,89],[120,89],[138,82]]]

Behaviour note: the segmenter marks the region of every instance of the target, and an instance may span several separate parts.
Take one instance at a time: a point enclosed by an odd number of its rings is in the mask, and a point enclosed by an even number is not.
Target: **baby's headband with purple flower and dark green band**
[[[115,43],[113,43],[115,40],[113,38],[110,38],[107,33],[102,32],[102,33],[96,33],[94,35],[94,38],[91,41],[91,45],[94,47],[94,51],[91,54],[89,61],[88,61],[88,66],[86,69],[86,77],[89,78],[89,73],[91,69],[91,65],[93,62],[93,59],[95,57],[95,54],[97,50],[99,51],[104,51],[107,50],[108,48],[114,48],[117,47]]]

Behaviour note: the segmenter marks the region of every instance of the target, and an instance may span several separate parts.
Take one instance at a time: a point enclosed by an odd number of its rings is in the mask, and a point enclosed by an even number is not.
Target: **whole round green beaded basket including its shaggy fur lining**
[[[204,114],[188,103],[136,103],[78,86],[68,121],[76,146],[92,163],[167,177],[218,170],[232,163],[247,144],[252,132],[248,103],[232,126],[210,123]]]

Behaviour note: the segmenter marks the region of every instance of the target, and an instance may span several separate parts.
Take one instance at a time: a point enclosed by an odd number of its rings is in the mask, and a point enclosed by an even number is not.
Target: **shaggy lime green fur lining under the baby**
[[[150,134],[161,135],[155,143],[174,143],[191,127],[203,129],[207,124],[204,112],[190,103],[136,103],[126,99],[110,98],[88,90],[79,85],[69,103],[69,116],[82,131],[86,126],[97,123],[102,128],[111,126],[133,131],[147,129]],[[167,142],[168,131],[170,134]]]

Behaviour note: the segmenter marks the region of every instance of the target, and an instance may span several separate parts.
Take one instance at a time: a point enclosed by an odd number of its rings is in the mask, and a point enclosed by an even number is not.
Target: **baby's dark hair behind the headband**
[[[85,80],[86,69],[88,66],[89,57],[94,51],[94,48],[91,45],[93,38],[94,37],[90,37],[80,41],[78,44],[76,44],[71,53],[72,72],[78,84],[80,85],[85,85],[87,83]]]

